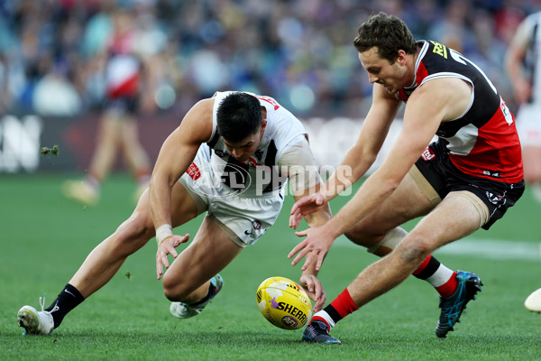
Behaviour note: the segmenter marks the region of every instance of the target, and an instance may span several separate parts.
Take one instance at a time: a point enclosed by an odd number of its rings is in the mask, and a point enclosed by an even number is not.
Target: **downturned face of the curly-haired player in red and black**
[[[368,51],[359,52],[359,60],[362,68],[368,72],[370,82],[381,84],[390,94],[396,94],[399,89],[409,85],[405,79],[408,69],[404,51],[399,51],[399,58],[391,64],[389,60],[381,58],[378,48],[374,46]]]

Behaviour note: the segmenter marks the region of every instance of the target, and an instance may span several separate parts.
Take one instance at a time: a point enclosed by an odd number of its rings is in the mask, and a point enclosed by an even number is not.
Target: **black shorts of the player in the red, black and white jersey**
[[[522,196],[524,180],[511,184],[465,174],[451,162],[445,145],[445,141],[441,140],[431,143],[430,149],[435,156],[427,160],[419,158],[415,163],[417,169],[441,199],[456,190],[467,190],[479,197],[487,205],[490,213],[489,221],[482,228],[489,229]]]

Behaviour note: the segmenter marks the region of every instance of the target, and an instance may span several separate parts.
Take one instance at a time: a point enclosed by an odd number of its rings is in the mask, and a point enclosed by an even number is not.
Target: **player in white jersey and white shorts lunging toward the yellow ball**
[[[243,92],[199,101],[163,143],[149,190],[132,216],[96,246],[50,307],[23,306],[19,325],[26,333],[50,334],[153,236],[156,273],[173,301],[171,313],[183,319],[197,315],[222,288],[218,273],[278,217],[287,178],[295,199],[320,188],[307,134],[295,116],[271,97]],[[191,244],[177,253],[189,235],[174,235],[173,228],[204,211]],[[307,223],[323,225],[328,218],[326,207]],[[175,258],[172,264],[168,255]],[[321,308],[325,293],[314,269],[302,273],[300,283]]]

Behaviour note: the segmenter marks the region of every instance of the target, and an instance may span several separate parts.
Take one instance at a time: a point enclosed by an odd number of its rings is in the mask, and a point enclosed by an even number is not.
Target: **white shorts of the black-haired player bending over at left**
[[[204,147],[200,148],[179,182],[196,202],[197,214],[206,210],[207,216],[213,218],[236,245],[253,245],[278,218],[284,204],[283,192],[251,198],[209,180],[212,173],[201,171],[194,176],[190,171],[193,165],[195,169],[204,169],[208,159]]]

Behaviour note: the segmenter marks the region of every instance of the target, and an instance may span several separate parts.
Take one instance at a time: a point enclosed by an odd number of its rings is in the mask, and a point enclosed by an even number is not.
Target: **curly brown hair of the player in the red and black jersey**
[[[377,46],[381,58],[389,60],[391,64],[397,60],[400,50],[407,54],[417,51],[415,38],[408,26],[393,15],[372,15],[366,23],[362,23],[358,32],[353,41],[357,51],[363,52]]]

